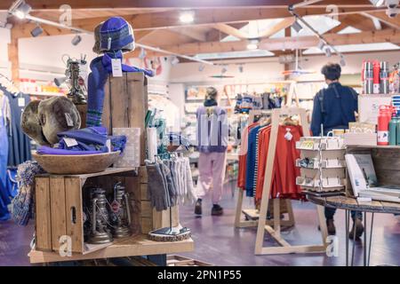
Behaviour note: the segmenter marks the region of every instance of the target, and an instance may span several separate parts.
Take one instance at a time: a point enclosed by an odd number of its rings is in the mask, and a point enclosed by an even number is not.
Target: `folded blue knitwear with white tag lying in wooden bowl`
[[[111,151],[124,151],[125,136],[108,136],[105,127],[88,127],[82,130],[69,130],[58,133],[57,147],[40,146],[37,154],[101,154],[107,153],[108,139]]]

